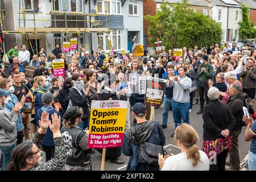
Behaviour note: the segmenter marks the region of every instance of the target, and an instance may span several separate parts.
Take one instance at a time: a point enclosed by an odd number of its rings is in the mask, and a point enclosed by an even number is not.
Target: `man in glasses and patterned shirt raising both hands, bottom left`
[[[44,112],[39,120],[40,128],[34,134],[32,142],[23,142],[13,151],[13,162],[8,166],[10,171],[61,171],[68,154],[65,150],[64,140],[60,133],[60,117],[52,115],[52,123],[49,114]],[[55,143],[55,154],[51,160],[42,164],[41,151],[43,138],[47,129],[51,129]]]

